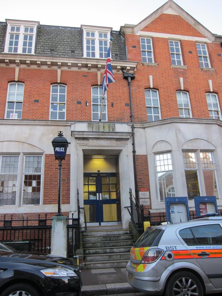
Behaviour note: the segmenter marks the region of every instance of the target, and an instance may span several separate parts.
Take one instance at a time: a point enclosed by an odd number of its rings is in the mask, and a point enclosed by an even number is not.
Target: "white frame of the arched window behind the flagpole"
[[[98,95],[93,94],[93,89],[97,88],[98,91]],[[93,96],[98,97],[98,101],[97,98],[94,99]],[[100,114],[100,109],[101,109],[101,102],[102,102],[102,86],[92,86],[91,87],[91,106],[92,106],[92,121],[99,121],[99,114]],[[98,111],[95,111],[94,106],[96,106],[96,109],[98,107]],[[104,97],[104,103],[103,103],[103,110],[105,110],[105,112],[102,112],[102,120],[103,122],[107,121],[107,100],[106,100],[106,95]],[[98,119],[93,119],[93,115],[98,114]],[[106,115],[106,119],[103,120],[103,115]]]

